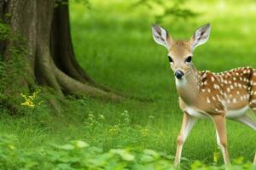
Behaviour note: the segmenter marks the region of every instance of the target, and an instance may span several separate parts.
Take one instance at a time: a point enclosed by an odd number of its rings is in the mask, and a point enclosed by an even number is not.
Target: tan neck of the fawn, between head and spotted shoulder
[[[177,94],[183,99],[186,105],[195,105],[200,92],[200,73],[194,65],[191,65],[188,73],[182,79],[175,78]]]

